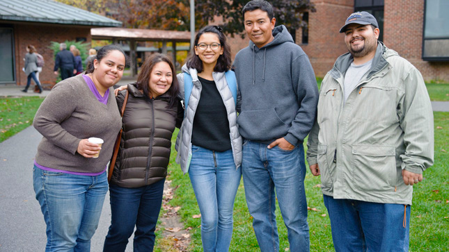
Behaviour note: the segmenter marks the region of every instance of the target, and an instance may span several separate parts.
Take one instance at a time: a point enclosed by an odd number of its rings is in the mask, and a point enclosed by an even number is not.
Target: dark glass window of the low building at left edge
[[[0,26],[0,84],[15,83],[14,30]]]

